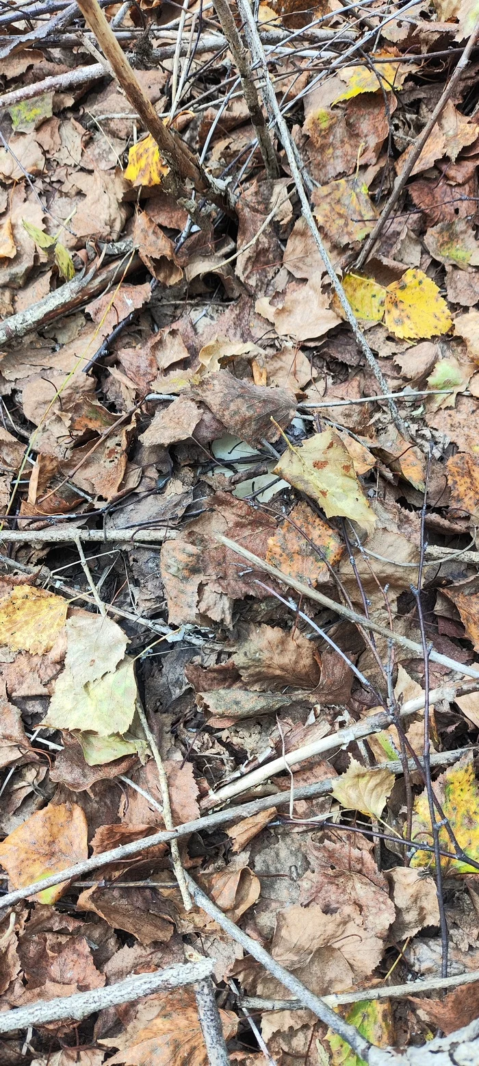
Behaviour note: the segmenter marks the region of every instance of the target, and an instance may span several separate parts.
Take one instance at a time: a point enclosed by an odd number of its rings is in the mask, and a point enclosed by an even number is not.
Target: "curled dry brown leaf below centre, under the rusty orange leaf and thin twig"
[[[243,681],[260,691],[284,685],[315,689],[320,677],[314,645],[298,630],[292,633],[274,626],[247,626],[233,658]]]

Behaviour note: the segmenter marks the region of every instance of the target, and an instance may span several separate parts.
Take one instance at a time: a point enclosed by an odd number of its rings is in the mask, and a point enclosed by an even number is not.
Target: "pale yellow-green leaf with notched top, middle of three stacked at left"
[[[84,685],[76,684],[66,665],[55,682],[43,725],[97,732],[100,737],[127,732],[137,699],[133,664],[133,659],[123,659],[116,671]]]

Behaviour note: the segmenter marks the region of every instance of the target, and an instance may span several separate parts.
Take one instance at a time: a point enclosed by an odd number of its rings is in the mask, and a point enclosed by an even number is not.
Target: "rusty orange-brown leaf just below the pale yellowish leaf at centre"
[[[343,545],[334,530],[308,503],[300,501],[269,538],[266,562],[315,586],[329,578],[330,571],[323,556],[330,566],[334,566],[342,554]]]

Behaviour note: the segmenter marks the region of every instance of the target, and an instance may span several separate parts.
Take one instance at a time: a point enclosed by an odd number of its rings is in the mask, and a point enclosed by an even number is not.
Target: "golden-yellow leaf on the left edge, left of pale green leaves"
[[[12,651],[43,655],[53,647],[65,626],[67,600],[33,585],[16,585],[0,600],[2,644]]]

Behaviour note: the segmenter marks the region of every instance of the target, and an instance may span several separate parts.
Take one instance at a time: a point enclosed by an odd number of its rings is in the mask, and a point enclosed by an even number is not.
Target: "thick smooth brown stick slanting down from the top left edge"
[[[141,115],[145,128],[156,142],[161,155],[170,167],[170,178],[183,195],[187,189],[201,193],[209,199],[225,200],[225,190],[220,189],[199,165],[189,148],[178,135],[171,132],[159,118],[153,104],[145,96],[139,82],[135,78],[127,56],[121,51],[115,34],[101,11],[98,0],[80,0],[79,7],[87,25],[95,34],[105,59],[112,66],[125,95]],[[185,188],[186,185],[186,188]]]

